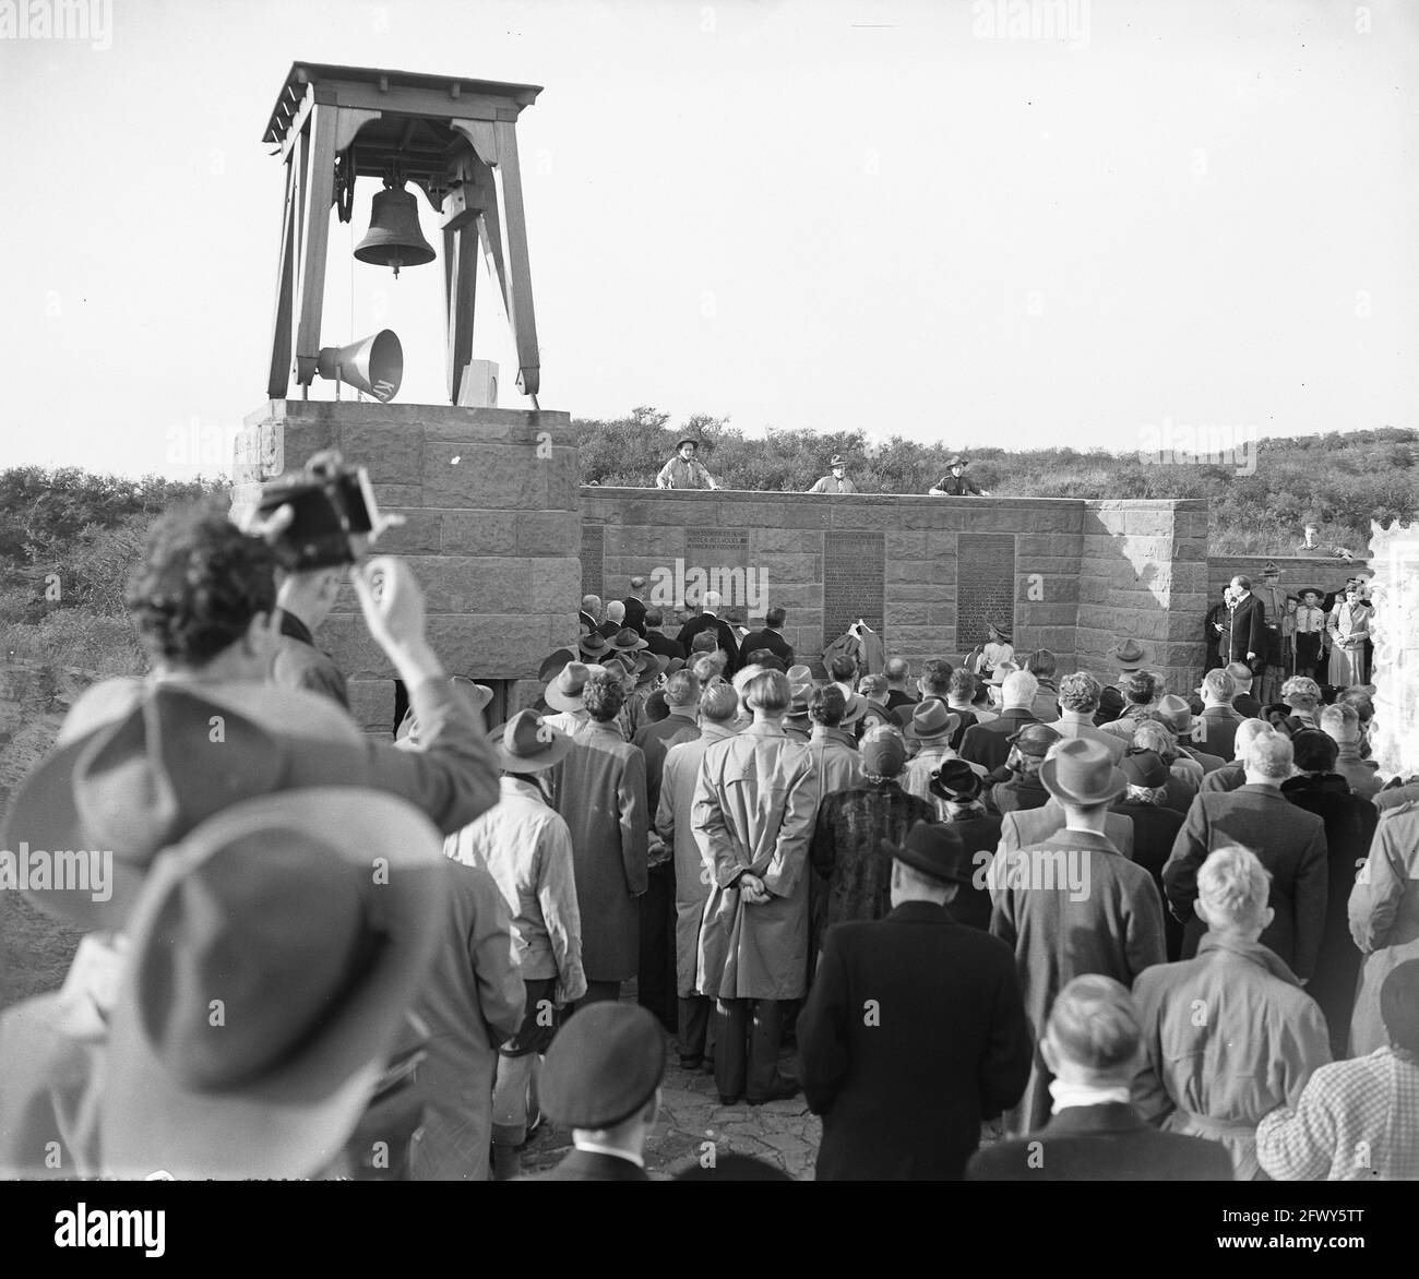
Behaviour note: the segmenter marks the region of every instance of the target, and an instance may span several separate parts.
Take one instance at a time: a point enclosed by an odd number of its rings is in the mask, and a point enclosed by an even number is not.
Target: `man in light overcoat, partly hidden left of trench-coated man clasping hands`
[[[677,1035],[680,1065],[687,1071],[698,1069],[708,1055],[714,1007],[714,1000],[700,990],[700,927],[710,883],[690,817],[705,750],[734,736],[739,698],[729,685],[717,683],[701,689],[698,709],[698,736],[675,742],[666,752],[654,822],[656,835],[674,854]]]

